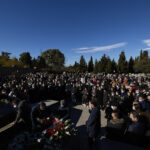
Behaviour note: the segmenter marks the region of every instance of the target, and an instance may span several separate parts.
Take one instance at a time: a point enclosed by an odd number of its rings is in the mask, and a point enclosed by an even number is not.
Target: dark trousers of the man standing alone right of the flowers
[[[99,142],[97,137],[88,137],[89,150],[99,150]]]

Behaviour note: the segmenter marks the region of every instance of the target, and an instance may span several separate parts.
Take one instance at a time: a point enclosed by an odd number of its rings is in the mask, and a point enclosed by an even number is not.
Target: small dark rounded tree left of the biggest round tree
[[[30,56],[29,52],[24,52],[20,54],[19,60],[27,67],[31,67],[31,59],[32,57]]]

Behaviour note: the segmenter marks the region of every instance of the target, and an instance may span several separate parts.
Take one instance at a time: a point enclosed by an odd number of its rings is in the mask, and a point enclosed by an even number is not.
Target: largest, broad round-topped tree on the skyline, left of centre
[[[47,66],[63,66],[65,63],[65,56],[58,49],[48,49],[42,53],[42,58],[45,59]]]

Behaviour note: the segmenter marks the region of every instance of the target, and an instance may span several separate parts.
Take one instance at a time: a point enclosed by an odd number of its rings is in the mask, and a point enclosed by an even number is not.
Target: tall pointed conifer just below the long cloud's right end
[[[118,60],[118,71],[120,73],[126,73],[127,72],[127,61],[125,53],[122,51]]]

